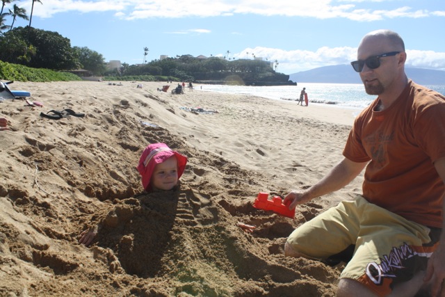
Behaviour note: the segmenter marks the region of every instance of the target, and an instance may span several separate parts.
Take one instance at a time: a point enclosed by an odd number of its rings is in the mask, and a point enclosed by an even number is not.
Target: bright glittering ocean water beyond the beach
[[[445,95],[445,86],[426,86]],[[277,100],[296,100],[306,88],[309,104],[341,108],[364,109],[375,99],[367,95],[362,83],[298,83],[298,86],[225,86],[202,85],[203,91],[226,94],[254,95]]]

